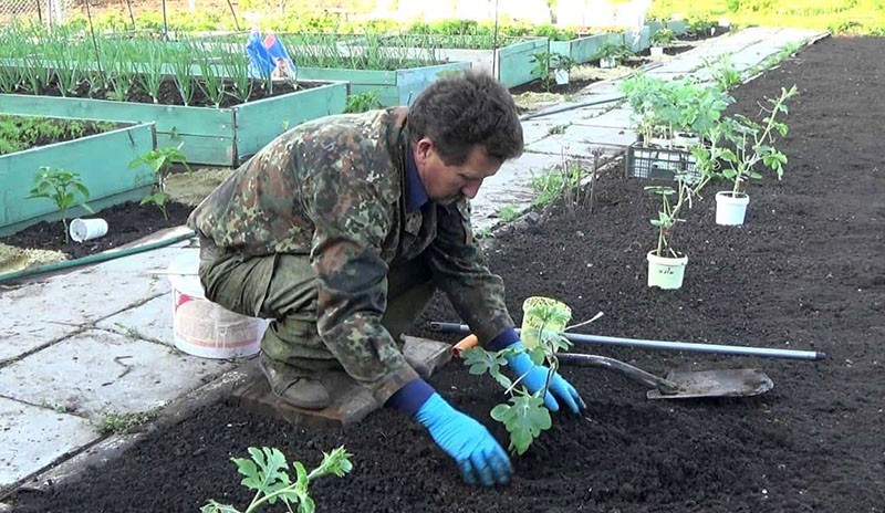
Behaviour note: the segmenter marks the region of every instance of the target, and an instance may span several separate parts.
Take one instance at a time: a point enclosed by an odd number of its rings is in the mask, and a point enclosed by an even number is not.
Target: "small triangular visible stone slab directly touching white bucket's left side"
[[[138,338],[174,346],[171,294],[124,310],[98,322],[96,327],[125,336],[137,334]]]

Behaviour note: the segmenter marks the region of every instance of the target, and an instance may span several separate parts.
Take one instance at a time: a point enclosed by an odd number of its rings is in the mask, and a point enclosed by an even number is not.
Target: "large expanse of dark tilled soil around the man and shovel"
[[[501,235],[491,266],[516,317],[530,295],[570,304],[574,320],[602,311],[585,333],[813,349],[803,360],[583,345],[646,370],[758,367],[775,386],[756,398],[650,401],[646,387],[598,369],[564,368],[589,404],[559,415],[498,490],[462,484],[415,422],[383,410],[343,431],[313,432],[216,405],[198,411],[76,484],[18,496],[22,512],[192,512],[212,498],[244,506],[230,457],[278,447],[313,465],[344,444],[354,470],[313,489],[327,512],[882,512],[885,507],[885,117],[883,39],[824,40],[737,92],[756,111],[796,83],[784,181],[750,189],[743,227],[714,223],[712,195],[678,234],[685,285],[645,285],[655,241],[643,182],[611,174],[592,214],[552,218]],[[442,300],[425,321],[452,321]],[[421,332],[427,335],[427,332]],[[420,333],[419,333],[420,334]],[[433,378],[455,405],[506,443],[488,412],[489,379],[450,365]],[[274,511],[280,511],[277,509]]]

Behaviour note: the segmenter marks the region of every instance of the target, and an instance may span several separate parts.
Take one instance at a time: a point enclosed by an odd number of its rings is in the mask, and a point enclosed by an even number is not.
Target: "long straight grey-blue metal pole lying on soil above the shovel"
[[[446,333],[470,333],[466,324],[431,322],[430,329]],[[517,328],[517,333],[520,329]],[[641,347],[645,349],[690,350],[697,353],[716,353],[719,355],[763,356],[768,358],[790,358],[819,360],[826,358],[826,353],[818,350],[771,349],[767,347],[727,346],[720,344],[695,344],[689,342],[645,341],[639,338],[621,338],[602,335],[581,335],[565,333],[565,338],[572,342],[591,344],[605,344],[612,346]]]

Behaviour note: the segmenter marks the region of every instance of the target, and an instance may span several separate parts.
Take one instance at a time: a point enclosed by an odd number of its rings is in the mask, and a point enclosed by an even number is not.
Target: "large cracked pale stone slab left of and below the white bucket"
[[[0,390],[23,402],[98,420],[112,412],[155,410],[232,365],[88,329],[0,369]]]

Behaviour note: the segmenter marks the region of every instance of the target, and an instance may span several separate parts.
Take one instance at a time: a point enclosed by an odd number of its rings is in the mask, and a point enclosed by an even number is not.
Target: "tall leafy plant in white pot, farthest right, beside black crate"
[[[757,170],[759,164],[773,171],[778,180],[783,177],[787,156],[774,147],[774,143],[778,135],[785,136],[790,128],[779,122],[778,116],[788,114],[787,101],[798,94],[795,85],[789,90],[781,87],[781,95],[774,100],[767,98],[770,106],[761,107],[761,122],[741,114],[723,119],[721,135],[726,144],[700,150],[708,151],[707,157],[718,160],[718,175],[732,182],[731,190],[716,193],[717,224],[743,224],[750,202],[747,182],[762,178]]]

